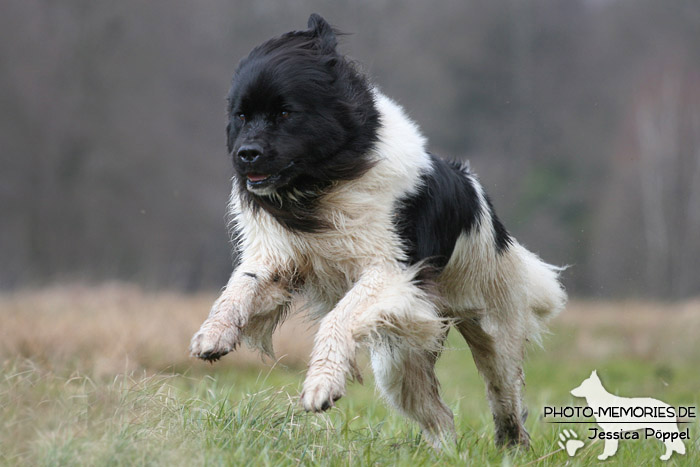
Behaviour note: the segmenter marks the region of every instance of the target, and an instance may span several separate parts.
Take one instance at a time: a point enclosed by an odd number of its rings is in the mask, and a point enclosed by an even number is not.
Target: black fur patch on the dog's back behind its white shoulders
[[[436,268],[445,267],[454,252],[459,235],[479,227],[484,209],[492,219],[496,251],[502,252],[511,239],[498,220],[490,201],[479,201],[475,181],[457,163],[431,155],[433,170],[422,175],[419,191],[400,200],[396,229],[406,245],[410,264],[419,261]]]

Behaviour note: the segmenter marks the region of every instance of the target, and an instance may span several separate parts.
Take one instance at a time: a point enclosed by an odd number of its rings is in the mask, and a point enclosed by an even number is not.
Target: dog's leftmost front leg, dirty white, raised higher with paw
[[[190,354],[215,361],[235,350],[251,317],[275,310],[289,299],[278,274],[252,264],[241,264],[231,275],[209,317],[192,337]]]

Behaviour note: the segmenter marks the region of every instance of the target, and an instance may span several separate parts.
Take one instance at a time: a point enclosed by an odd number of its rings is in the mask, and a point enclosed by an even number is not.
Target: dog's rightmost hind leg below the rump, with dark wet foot
[[[489,326],[477,318],[466,318],[456,327],[469,344],[476,367],[486,383],[486,395],[496,425],[496,445],[529,447],[530,436],[523,425],[527,411],[522,405],[525,339],[514,329]]]

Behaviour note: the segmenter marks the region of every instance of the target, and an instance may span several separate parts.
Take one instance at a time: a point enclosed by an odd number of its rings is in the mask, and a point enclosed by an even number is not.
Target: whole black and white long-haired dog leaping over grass
[[[558,269],[508,234],[468,166],[439,159],[399,105],[336,51],[320,16],[244,58],[228,96],[239,264],[192,338],[216,360],[271,354],[290,304],[320,320],[301,404],[333,406],[355,354],[435,446],[454,436],[434,365],[450,326],[486,381],[496,443],[528,445],[523,351],[565,305]]]

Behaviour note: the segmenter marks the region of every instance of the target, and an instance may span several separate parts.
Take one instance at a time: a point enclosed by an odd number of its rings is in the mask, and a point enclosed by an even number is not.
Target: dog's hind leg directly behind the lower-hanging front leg
[[[423,431],[435,448],[455,438],[452,412],[440,398],[435,376],[438,353],[402,346],[386,336],[371,348],[372,370],[382,395]]]

